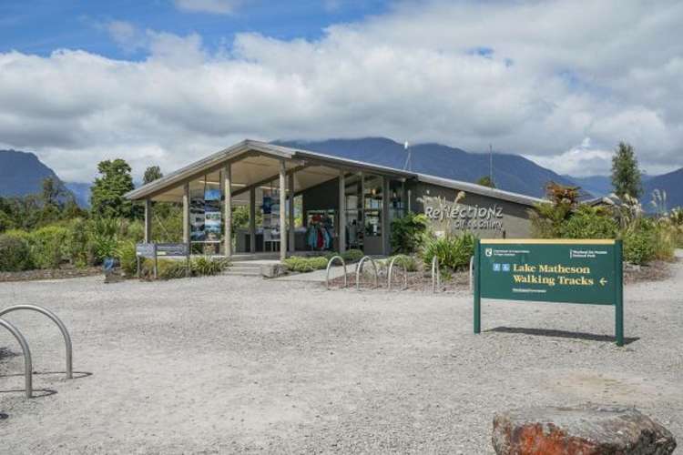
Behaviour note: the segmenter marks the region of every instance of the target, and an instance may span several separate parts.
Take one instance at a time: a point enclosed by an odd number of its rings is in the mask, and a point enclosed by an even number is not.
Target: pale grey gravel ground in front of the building
[[[683,263],[626,288],[614,309],[484,301],[466,291],[333,290],[216,277],[0,283],[2,306],[53,308],[71,329],[78,379],[63,379],[59,331],[13,313],[34,355],[0,349],[3,453],[254,451],[492,453],[496,410],[635,405],[683,443]],[[7,333],[0,348],[19,351]],[[87,374],[85,374],[87,373]],[[9,376],[7,376],[9,375]]]

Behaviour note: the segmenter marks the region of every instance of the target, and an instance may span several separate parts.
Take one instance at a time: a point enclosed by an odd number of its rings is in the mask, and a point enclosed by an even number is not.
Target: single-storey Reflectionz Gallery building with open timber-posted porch
[[[423,212],[437,233],[470,230],[481,238],[525,238],[528,209],[542,201],[253,140],[126,196],[145,202],[146,241],[151,238],[151,202],[176,202],[183,207],[183,240],[193,251],[226,256],[279,252],[280,258],[348,248],[388,255],[392,219],[408,211]],[[249,207],[249,226],[232,232],[233,208],[238,206]]]

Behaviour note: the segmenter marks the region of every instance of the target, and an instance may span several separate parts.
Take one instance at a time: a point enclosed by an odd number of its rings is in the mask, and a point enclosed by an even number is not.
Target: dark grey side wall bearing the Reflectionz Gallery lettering
[[[459,191],[453,188],[439,187],[436,185],[422,182],[410,184],[411,190],[411,209],[415,213],[424,213],[423,198],[444,197],[450,206],[453,206],[454,199]],[[529,238],[531,237],[531,222],[529,221],[528,210],[531,207],[524,204],[509,202],[495,197],[486,197],[465,192],[465,197],[459,203],[460,206],[467,207],[494,207],[502,208],[503,217],[500,218],[502,230],[496,229],[472,229],[472,232],[480,238],[502,238],[505,231],[507,238]],[[498,218],[495,218],[497,220]],[[449,224],[450,223],[450,224]],[[455,227],[454,220],[448,218],[443,220],[433,220],[434,230],[455,230],[462,231],[463,228]]]

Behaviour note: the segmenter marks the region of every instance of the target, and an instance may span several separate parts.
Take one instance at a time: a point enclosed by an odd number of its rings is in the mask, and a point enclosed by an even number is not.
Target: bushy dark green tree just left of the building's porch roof
[[[97,165],[97,171],[100,177],[90,188],[91,212],[97,217],[138,217],[138,207],[124,197],[135,188],[127,162],[107,159]]]

